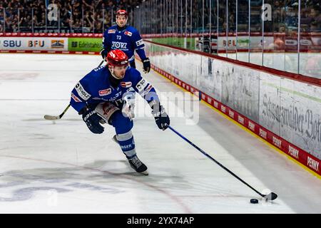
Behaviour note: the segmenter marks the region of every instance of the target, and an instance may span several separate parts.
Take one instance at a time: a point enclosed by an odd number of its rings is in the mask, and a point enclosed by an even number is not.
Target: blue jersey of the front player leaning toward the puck
[[[125,76],[116,88],[111,86],[108,79],[110,76],[111,72],[107,66],[93,69],[71,91],[71,106],[79,112],[87,104],[95,105],[103,101],[121,101],[123,95],[131,88],[148,103],[151,100],[159,100],[155,88],[135,68],[127,68]]]

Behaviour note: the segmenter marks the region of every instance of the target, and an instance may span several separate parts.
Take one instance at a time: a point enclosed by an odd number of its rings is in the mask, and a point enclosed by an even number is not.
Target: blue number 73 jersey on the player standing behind
[[[141,35],[132,26],[126,26],[121,31],[118,31],[117,26],[111,26],[103,33],[103,48],[107,51],[120,49],[126,53],[130,62],[135,59],[135,50],[141,60],[146,59],[144,47]]]

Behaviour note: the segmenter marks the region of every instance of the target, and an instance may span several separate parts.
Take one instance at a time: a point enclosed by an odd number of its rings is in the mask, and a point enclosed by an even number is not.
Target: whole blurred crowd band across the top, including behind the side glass
[[[61,31],[61,32],[91,32],[102,33],[106,28],[112,26],[114,21],[114,14],[117,9],[126,9],[129,14],[133,9],[145,0],[49,0],[49,4],[56,4],[58,6],[58,21],[46,21],[46,15],[49,10],[46,6],[45,0],[0,0],[0,31]],[[147,0],[148,1],[148,0]],[[167,4],[171,1],[166,0]],[[178,1],[184,7],[184,2]],[[235,32],[238,27],[239,31],[248,30],[248,6],[239,4],[238,9],[238,24],[236,24],[236,7],[235,1],[228,1],[228,16],[226,14],[226,1],[218,1],[219,8],[217,10],[215,4],[212,2],[213,10],[209,10],[209,0],[204,1],[205,10],[203,12],[203,1],[192,1],[192,12],[188,11],[187,19],[190,20],[192,16],[192,26],[188,26],[188,30],[192,29],[193,33],[200,33],[216,30],[218,26],[219,32],[225,32],[228,24],[228,31]],[[263,1],[251,1],[251,20],[250,30],[254,32],[262,31],[260,21],[260,4]],[[279,32],[283,31],[280,26],[285,24],[285,31],[297,31],[298,26],[298,0],[276,0],[268,1],[272,5],[272,22],[265,22],[265,32]],[[158,1],[157,9],[161,12],[163,1]],[[166,4],[166,6],[167,6]],[[312,32],[321,31],[321,1],[320,0],[302,0],[301,1],[301,31]],[[174,5],[173,5],[174,6]],[[175,9],[175,6],[174,6]],[[170,9],[170,11],[174,11]],[[245,11],[245,13],[243,12]],[[211,15],[211,24],[210,16]],[[190,15],[191,14],[191,15]],[[218,20],[216,19],[218,14]],[[227,19],[228,17],[228,19]],[[135,18],[130,17],[131,20]],[[185,24],[183,17],[178,17],[178,25]],[[217,25],[218,21],[218,25]],[[153,33],[161,33],[161,29],[167,32],[183,33],[185,29],[175,28],[175,15],[168,15],[168,18],[161,18],[159,16],[153,17],[149,24],[145,24],[146,31]],[[167,26],[161,27],[165,23]],[[152,25],[160,26],[152,26]],[[189,24],[189,21],[188,21]],[[190,28],[191,27],[191,28]]]

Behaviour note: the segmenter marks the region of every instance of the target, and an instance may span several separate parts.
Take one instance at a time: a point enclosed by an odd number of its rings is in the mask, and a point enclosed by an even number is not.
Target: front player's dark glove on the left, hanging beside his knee
[[[103,126],[99,123],[103,120],[95,110],[91,110],[89,108],[83,108],[79,114],[83,115],[83,121],[86,123],[89,130],[91,130],[94,134],[101,134],[103,133]]]

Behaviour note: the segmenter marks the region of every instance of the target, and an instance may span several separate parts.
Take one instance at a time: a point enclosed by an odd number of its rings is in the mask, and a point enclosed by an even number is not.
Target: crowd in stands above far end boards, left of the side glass
[[[0,32],[57,31],[101,33],[115,21],[117,9],[131,13],[143,0],[0,0]],[[56,4],[52,20],[47,7]],[[128,21],[130,22],[130,21]]]

